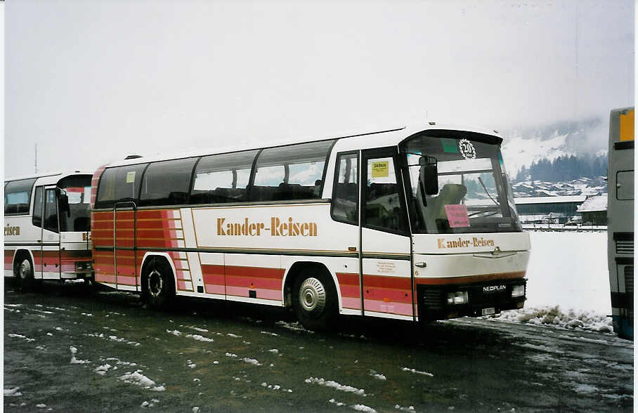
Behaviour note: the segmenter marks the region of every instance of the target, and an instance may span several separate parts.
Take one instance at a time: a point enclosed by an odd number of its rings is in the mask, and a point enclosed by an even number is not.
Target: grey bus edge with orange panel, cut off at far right
[[[613,329],[634,338],[634,108],[609,117],[607,240]]]

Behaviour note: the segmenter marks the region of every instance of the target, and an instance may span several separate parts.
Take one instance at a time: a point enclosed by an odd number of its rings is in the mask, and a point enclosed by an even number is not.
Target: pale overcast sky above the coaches
[[[634,1],[9,1],[5,173],[634,105]],[[507,137],[506,137],[507,138]],[[601,136],[601,147],[606,146]]]

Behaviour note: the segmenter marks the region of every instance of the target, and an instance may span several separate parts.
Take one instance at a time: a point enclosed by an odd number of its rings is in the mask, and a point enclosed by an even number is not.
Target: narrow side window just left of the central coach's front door
[[[336,179],[332,194],[332,219],[357,225],[359,159],[356,153],[337,157]]]

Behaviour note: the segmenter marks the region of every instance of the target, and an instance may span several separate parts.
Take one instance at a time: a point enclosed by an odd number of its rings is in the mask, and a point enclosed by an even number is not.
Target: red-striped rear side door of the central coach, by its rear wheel
[[[136,204],[116,202],[113,211],[115,288],[138,290],[136,271]]]

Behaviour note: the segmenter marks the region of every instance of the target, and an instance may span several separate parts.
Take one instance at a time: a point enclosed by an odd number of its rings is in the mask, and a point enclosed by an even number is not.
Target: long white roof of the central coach
[[[332,140],[338,139],[339,142],[342,140],[349,141],[348,146],[357,147],[359,149],[368,149],[374,147],[384,147],[384,146],[393,146],[398,145],[401,141],[409,136],[412,136],[415,133],[420,131],[426,131],[428,129],[448,129],[454,131],[468,131],[468,132],[477,132],[477,133],[485,133],[487,135],[497,136],[498,138],[502,137],[497,131],[490,131],[488,129],[480,129],[476,127],[468,127],[468,126],[460,126],[460,125],[450,125],[450,124],[437,124],[436,122],[424,122],[419,124],[414,124],[410,126],[397,126],[389,129],[377,129],[376,131],[359,131],[356,132],[341,132],[341,133],[332,133],[329,136],[324,136],[323,138],[294,138],[294,139],[285,139],[285,140],[273,140],[268,142],[266,145],[259,146],[256,143],[243,143],[243,144],[233,144],[226,145],[223,147],[211,147],[207,149],[201,150],[190,150],[184,152],[172,152],[171,155],[151,155],[148,157],[132,157],[131,159],[122,159],[117,160],[115,162],[111,162],[107,164],[106,167],[111,166],[123,166],[123,165],[134,165],[134,164],[145,164],[148,162],[157,162],[164,161],[169,159],[183,159],[190,157],[201,157],[206,155],[218,155],[224,153],[232,153],[232,152],[240,152],[243,150],[259,150],[265,149],[267,147],[278,147],[285,145],[294,145],[297,143],[306,143],[306,142],[318,142],[320,140]],[[347,144],[346,144],[347,145]]]

